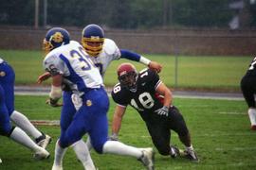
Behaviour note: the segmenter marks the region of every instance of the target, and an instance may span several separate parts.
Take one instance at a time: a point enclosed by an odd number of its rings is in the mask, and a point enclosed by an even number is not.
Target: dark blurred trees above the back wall
[[[0,25],[33,26],[36,0],[1,0]],[[101,26],[135,29],[163,27],[228,27],[236,9],[231,0],[39,0],[39,26]],[[256,26],[255,5],[242,18]]]

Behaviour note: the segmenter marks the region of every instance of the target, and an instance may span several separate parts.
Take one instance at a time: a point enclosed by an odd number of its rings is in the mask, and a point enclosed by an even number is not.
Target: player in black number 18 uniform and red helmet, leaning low
[[[178,156],[179,149],[170,145],[171,129],[185,144],[183,154],[191,161],[198,161],[193,150],[191,136],[177,108],[172,105],[172,93],[150,69],[137,73],[131,63],[122,63],[118,68],[119,83],[113,88],[112,97],[117,103],[110,139],[118,140],[119,128],[126,107],[131,105],[146,123],[158,152],[161,155]]]

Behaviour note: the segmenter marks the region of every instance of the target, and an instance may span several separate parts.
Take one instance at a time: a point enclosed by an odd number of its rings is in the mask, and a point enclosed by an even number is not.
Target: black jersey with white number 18
[[[163,107],[161,100],[155,94],[155,89],[160,83],[161,80],[155,71],[145,69],[138,74],[136,93],[117,84],[111,93],[112,98],[119,105],[131,105],[144,121],[158,121],[163,118],[155,112]]]

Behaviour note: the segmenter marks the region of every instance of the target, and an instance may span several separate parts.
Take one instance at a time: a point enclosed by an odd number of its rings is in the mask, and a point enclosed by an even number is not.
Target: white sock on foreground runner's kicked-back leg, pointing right
[[[137,159],[143,155],[142,151],[137,147],[122,144],[119,141],[107,141],[103,145],[103,153],[132,156],[136,157]]]

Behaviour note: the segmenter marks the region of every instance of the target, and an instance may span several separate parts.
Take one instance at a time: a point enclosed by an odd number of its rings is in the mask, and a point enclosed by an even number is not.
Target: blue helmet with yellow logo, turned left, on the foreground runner
[[[67,30],[62,27],[52,27],[46,32],[46,37],[43,42],[43,49],[46,54],[64,44],[69,43],[70,36]]]

